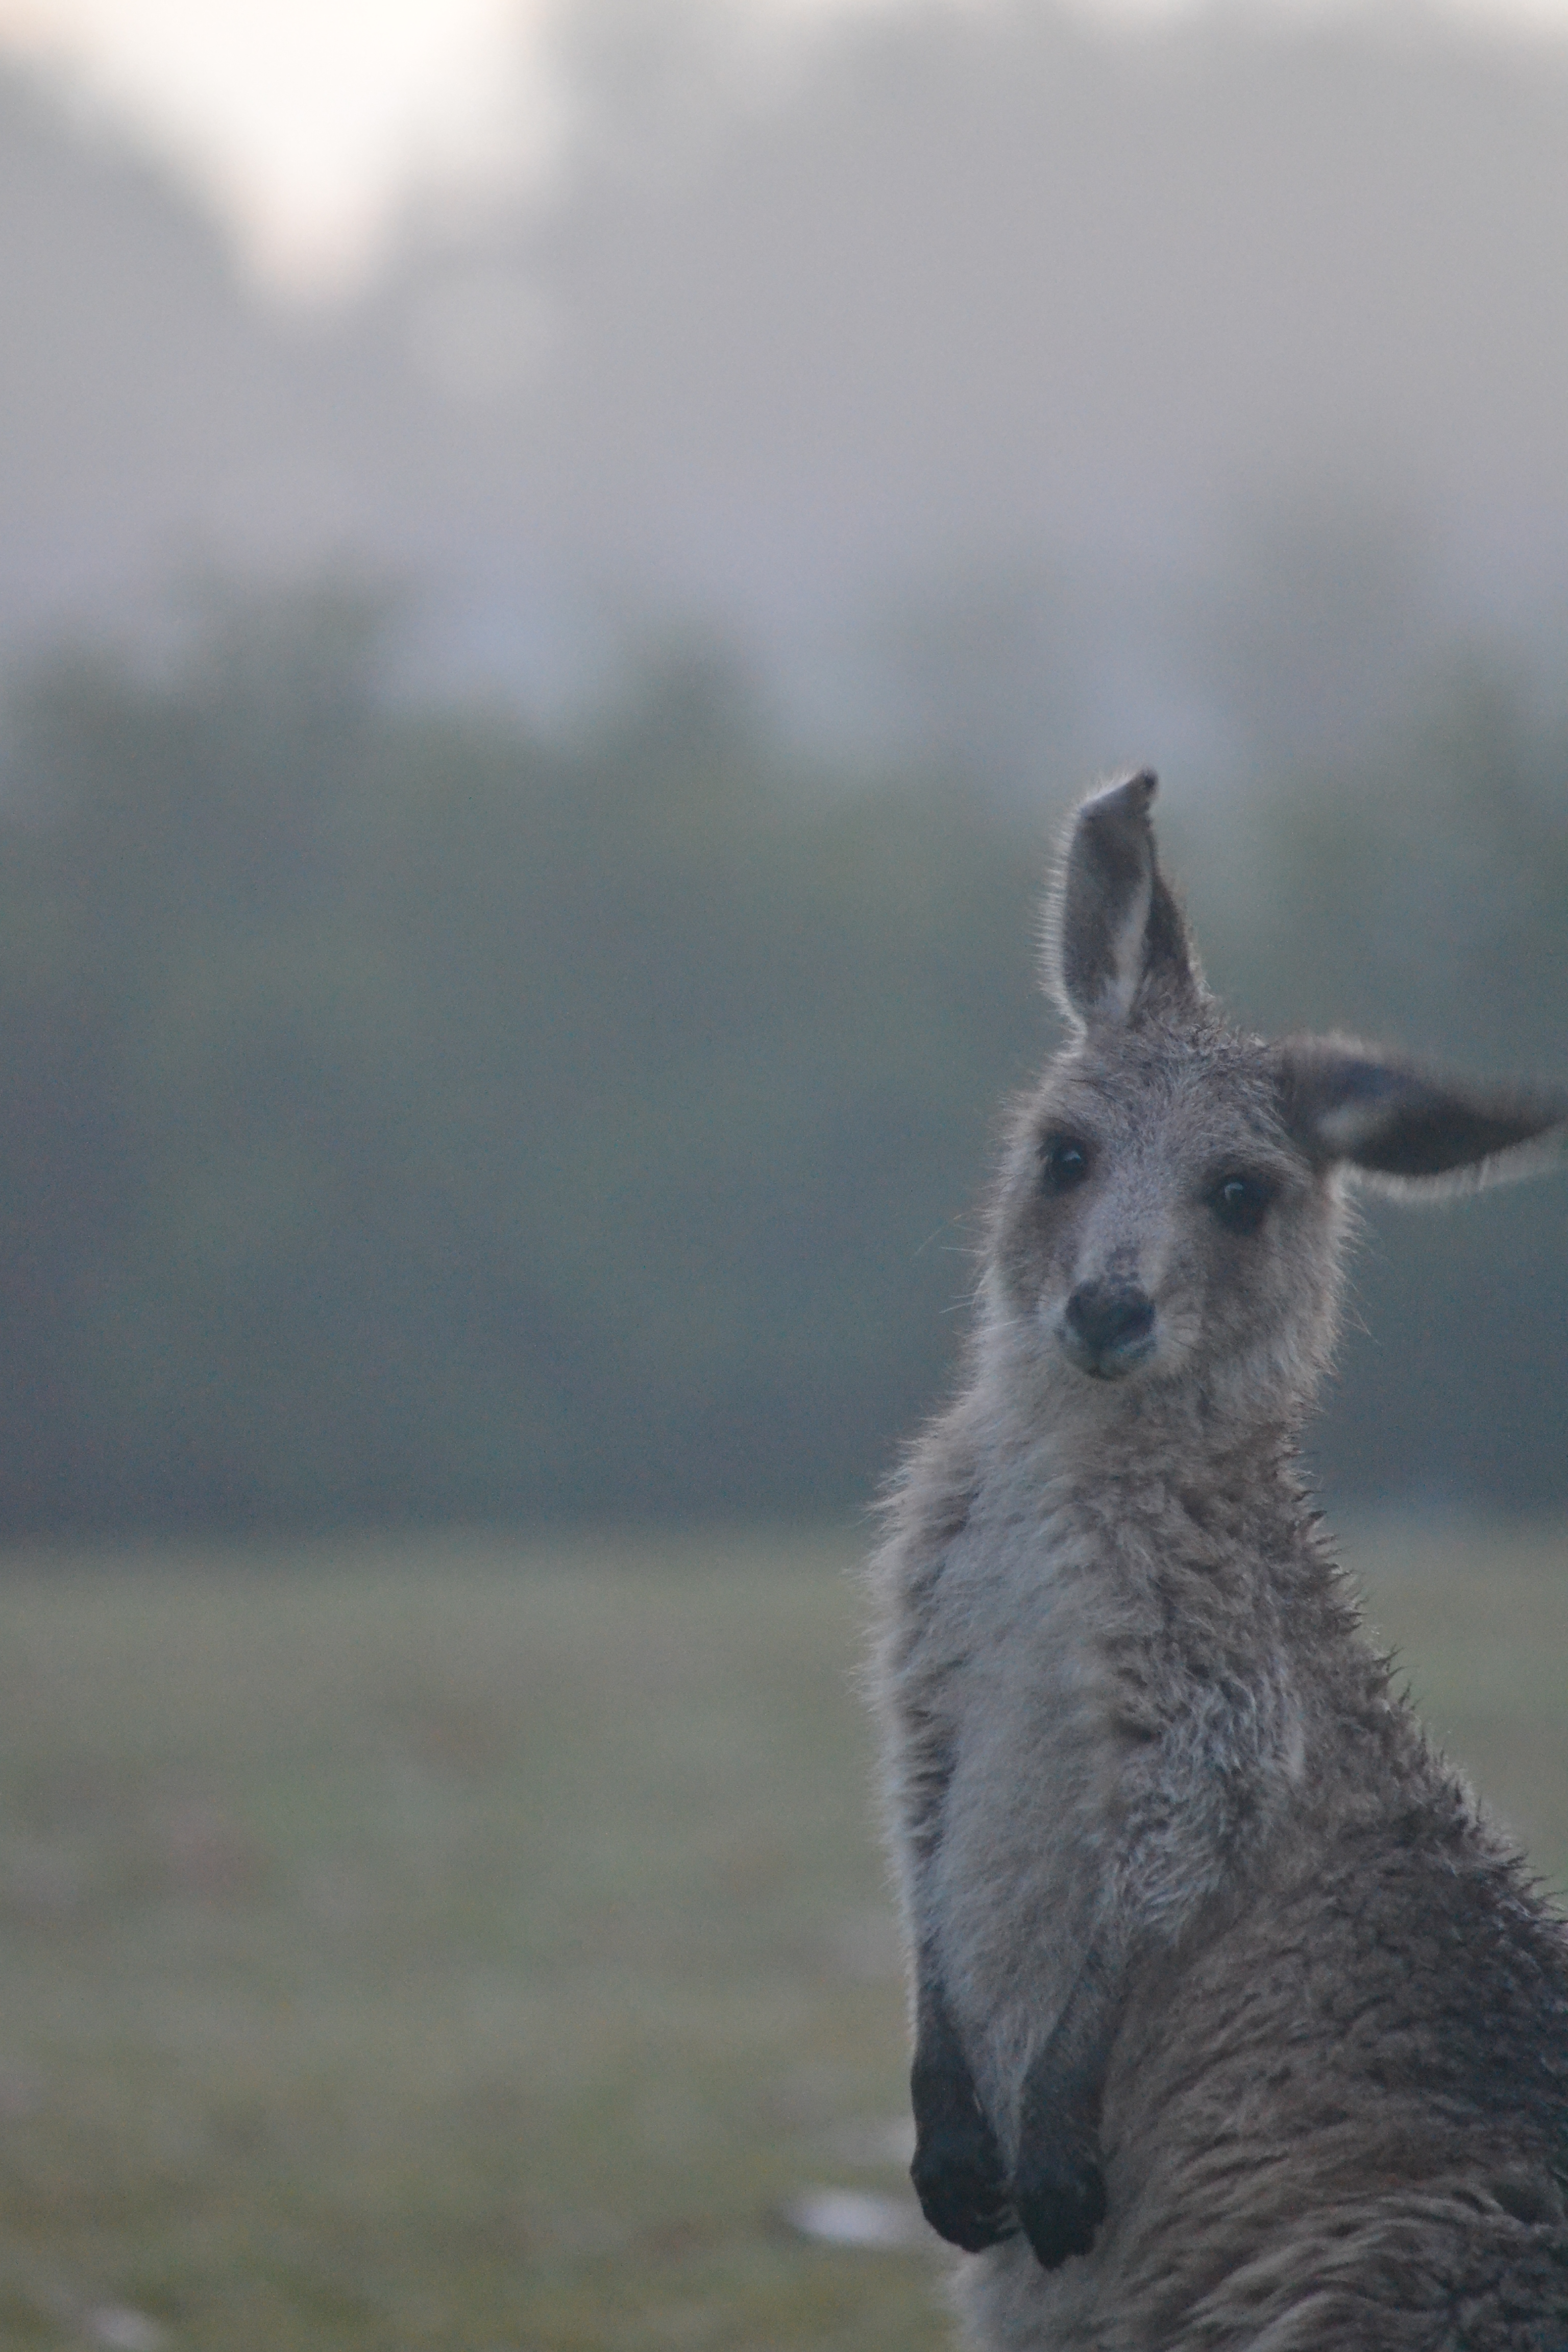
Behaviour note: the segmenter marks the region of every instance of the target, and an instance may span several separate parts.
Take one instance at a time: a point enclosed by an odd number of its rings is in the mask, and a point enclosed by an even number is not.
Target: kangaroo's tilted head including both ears
[[[1013,1127],[990,1319],[1086,1411],[1182,1402],[1244,1437],[1293,1425],[1328,1359],[1345,1176],[1420,1192],[1523,1174],[1521,1145],[1568,1101],[1345,1037],[1232,1030],[1159,870],[1152,800],[1154,776],[1128,776],[1067,833],[1046,981],[1070,1042]]]

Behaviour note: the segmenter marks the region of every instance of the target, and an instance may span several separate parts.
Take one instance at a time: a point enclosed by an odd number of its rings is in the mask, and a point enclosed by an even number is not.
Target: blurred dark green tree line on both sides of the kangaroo
[[[715,656],[567,734],[395,668],[320,593],[12,687],[0,1529],[865,1496],[1051,1037],[1060,804],[835,774]],[[1244,1016],[1563,1077],[1568,741],[1507,682],[1164,816]],[[1378,1209],[1359,1298],[1333,1479],[1568,1498],[1561,1183]]]

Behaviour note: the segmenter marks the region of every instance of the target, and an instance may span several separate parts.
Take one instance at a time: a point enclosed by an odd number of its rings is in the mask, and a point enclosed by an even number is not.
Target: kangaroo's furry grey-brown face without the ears
[[[1267,1047],[1119,1035],[1067,1054],[1023,1117],[997,1265],[1053,1376],[1197,1371],[1272,1411],[1328,1345],[1342,1218]]]

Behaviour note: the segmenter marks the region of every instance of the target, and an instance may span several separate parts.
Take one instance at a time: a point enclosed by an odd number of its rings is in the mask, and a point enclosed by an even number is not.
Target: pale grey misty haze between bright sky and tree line
[[[665,71],[616,73],[618,26]],[[1032,786],[1201,774],[1265,701],[1342,741],[1455,633],[1554,644],[1563,49],[1025,5],[846,28],[778,87],[698,9],[581,49],[578,167],[411,219],[320,318],[12,80],[12,640],[181,564],[355,560],[418,586],[435,675],[555,703],[712,628],[827,720],[983,699]]]

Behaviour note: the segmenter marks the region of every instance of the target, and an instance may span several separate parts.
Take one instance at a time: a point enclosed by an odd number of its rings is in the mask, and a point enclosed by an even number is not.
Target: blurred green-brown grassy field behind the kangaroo
[[[1568,1879],[1568,1538],[1368,1529]],[[846,1538],[16,1559],[0,2343],[924,2352]]]

